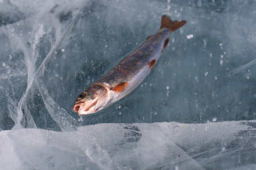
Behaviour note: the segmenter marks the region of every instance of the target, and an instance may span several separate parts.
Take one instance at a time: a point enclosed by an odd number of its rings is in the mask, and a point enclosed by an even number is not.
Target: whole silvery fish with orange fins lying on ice
[[[76,98],[73,111],[92,114],[129,95],[146,78],[166,48],[171,32],[186,23],[163,15],[160,29]]]

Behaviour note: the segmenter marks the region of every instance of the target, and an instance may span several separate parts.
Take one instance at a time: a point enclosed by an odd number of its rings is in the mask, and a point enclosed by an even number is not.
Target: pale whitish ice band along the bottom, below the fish
[[[255,132],[256,121],[6,130],[0,169],[255,169]]]

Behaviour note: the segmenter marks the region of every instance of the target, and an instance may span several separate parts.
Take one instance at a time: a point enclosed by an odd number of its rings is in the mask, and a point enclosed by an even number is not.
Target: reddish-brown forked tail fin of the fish
[[[169,16],[163,15],[160,28],[168,28],[170,29],[170,32],[174,32],[176,29],[179,29],[180,27],[185,25],[185,23],[185,20],[181,20],[181,22],[175,20],[173,22]]]

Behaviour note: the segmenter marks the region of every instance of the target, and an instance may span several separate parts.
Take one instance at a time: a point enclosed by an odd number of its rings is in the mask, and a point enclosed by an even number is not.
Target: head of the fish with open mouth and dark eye
[[[107,101],[108,90],[104,86],[94,84],[77,96],[73,111],[79,115],[92,114],[105,108]]]

